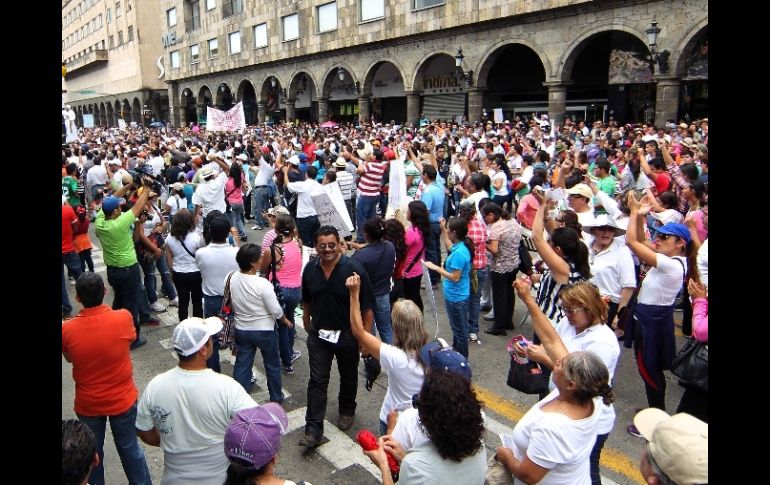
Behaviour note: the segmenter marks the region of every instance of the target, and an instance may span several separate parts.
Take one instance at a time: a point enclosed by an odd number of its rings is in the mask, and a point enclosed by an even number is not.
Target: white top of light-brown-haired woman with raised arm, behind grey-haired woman
[[[569,324],[567,317],[564,317],[556,324],[556,333],[559,334],[568,351],[589,350],[595,353],[610,371],[610,385],[612,385],[615,368],[620,357],[620,344],[618,344],[618,337],[610,327],[604,324],[594,325],[577,334],[575,327]],[[552,391],[556,389],[553,383],[553,374],[551,374],[548,387]],[[597,400],[595,405],[599,407],[600,413],[597,434],[609,433],[615,425],[615,407],[612,404],[605,406],[601,399]]]

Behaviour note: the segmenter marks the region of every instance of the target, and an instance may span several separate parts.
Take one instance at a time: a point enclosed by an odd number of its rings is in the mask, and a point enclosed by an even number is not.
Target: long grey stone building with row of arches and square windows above
[[[238,101],[247,123],[708,109],[706,0],[159,3],[174,125]]]

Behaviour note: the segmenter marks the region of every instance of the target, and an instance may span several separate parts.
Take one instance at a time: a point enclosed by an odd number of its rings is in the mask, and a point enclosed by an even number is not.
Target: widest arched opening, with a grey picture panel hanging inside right
[[[564,67],[567,116],[586,124],[596,120],[619,123],[654,116],[655,84],[644,42],[618,30],[587,37],[570,53]],[[646,110],[646,111],[645,111]]]

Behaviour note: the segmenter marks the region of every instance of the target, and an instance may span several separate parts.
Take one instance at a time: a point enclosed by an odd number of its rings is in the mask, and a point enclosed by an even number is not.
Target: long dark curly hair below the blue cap
[[[443,459],[460,462],[483,447],[481,402],[463,376],[431,370],[420,389],[420,426]]]

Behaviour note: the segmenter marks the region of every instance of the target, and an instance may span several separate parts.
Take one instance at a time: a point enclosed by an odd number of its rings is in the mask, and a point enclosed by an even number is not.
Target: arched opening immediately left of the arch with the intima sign
[[[370,112],[376,122],[404,123],[406,121],[406,95],[404,76],[390,61],[373,65],[364,79],[364,93],[371,93]]]

